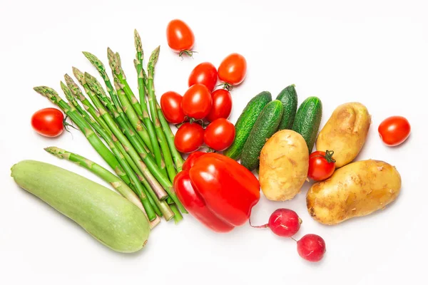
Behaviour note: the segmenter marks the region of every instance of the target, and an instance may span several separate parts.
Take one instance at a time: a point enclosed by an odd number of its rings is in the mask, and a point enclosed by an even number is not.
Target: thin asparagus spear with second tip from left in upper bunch
[[[83,110],[83,108],[81,108],[80,105],[78,105],[76,99],[74,99],[73,95],[71,95],[71,90],[68,89],[68,87],[64,83],[62,83],[62,82],[61,82],[61,88],[62,88],[64,94],[66,94],[66,98],[69,101],[69,103],[71,103],[71,105],[73,105],[74,108],[76,108],[76,110],[78,110],[78,113],[80,113],[82,115],[82,117],[89,123],[89,125],[91,125],[91,127],[94,130],[96,130],[96,133],[98,133],[99,135],[101,135],[101,138],[103,138],[103,140],[105,140],[107,142],[107,144],[110,147],[111,151],[116,156],[116,158],[118,159],[119,163],[121,163],[121,165],[123,167],[123,170],[125,170],[125,172],[126,172],[126,175],[128,175],[128,177],[131,178],[131,183],[133,185],[133,189],[136,190],[136,194],[138,195],[138,197],[140,197],[141,202],[143,203],[143,206],[146,209],[146,213],[147,213],[148,219],[150,221],[153,221],[154,219],[156,219],[156,214],[153,211],[153,208],[151,207],[151,204],[148,201],[148,198],[147,198],[147,196],[145,194],[146,190],[144,189],[144,187],[141,184],[140,180],[138,180],[138,177],[135,174],[135,172],[133,172],[133,170],[131,169],[131,167],[128,165],[128,162],[126,162],[126,160],[123,157],[123,155],[121,154],[121,152],[119,152],[118,149],[116,148],[116,145],[113,142],[113,139],[108,135],[108,133],[105,130],[103,130],[91,118],[91,116],[88,115],[88,113],[86,113],[85,110]]]

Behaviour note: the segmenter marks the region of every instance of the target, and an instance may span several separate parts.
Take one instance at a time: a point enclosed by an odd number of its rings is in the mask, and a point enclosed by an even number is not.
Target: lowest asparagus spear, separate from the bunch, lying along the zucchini
[[[147,217],[146,210],[144,209],[143,204],[141,204],[141,200],[138,198],[136,193],[134,193],[133,190],[131,190],[131,188],[128,187],[128,185],[123,183],[123,181],[119,177],[117,177],[116,175],[113,175],[113,173],[106,170],[106,168],[96,164],[91,160],[88,160],[85,157],[77,155],[76,153],[68,152],[58,147],[46,147],[44,150],[46,150],[46,152],[51,153],[51,155],[55,155],[60,159],[74,162],[77,165],[80,165],[81,167],[84,167],[87,170],[93,172],[95,175],[97,175],[104,181],[108,182],[114,189],[116,189],[119,193],[121,193],[123,197],[125,197],[130,202],[135,204],[138,208],[140,208],[141,211],[143,211]],[[161,219],[159,219],[159,217],[156,217],[156,219],[150,222],[151,229],[153,229],[153,227],[156,227],[156,225],[159,224],[159,222],[161,222]]]

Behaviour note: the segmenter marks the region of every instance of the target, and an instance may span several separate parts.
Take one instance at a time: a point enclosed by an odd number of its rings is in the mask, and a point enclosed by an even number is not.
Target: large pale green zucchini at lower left
[[[137,252],[148,241],[150,227],[141,209],[85,177],[34,160],[14,165],[11,176],[116,252]]]

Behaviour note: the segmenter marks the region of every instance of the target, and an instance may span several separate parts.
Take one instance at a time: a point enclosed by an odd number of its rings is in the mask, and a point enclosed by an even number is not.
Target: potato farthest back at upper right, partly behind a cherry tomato
[[[360,152],[370,128],[370,114],[361,103],[340,105],[317,138],[317,150],[333,150],[336,167],[352,162]]]

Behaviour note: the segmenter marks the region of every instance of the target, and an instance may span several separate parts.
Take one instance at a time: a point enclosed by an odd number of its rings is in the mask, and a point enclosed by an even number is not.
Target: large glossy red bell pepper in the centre
[[[260,199],[253,173],[217,153],[190,154],[174,187],[188,212],[215,232],[230,232],[247,222]]]

